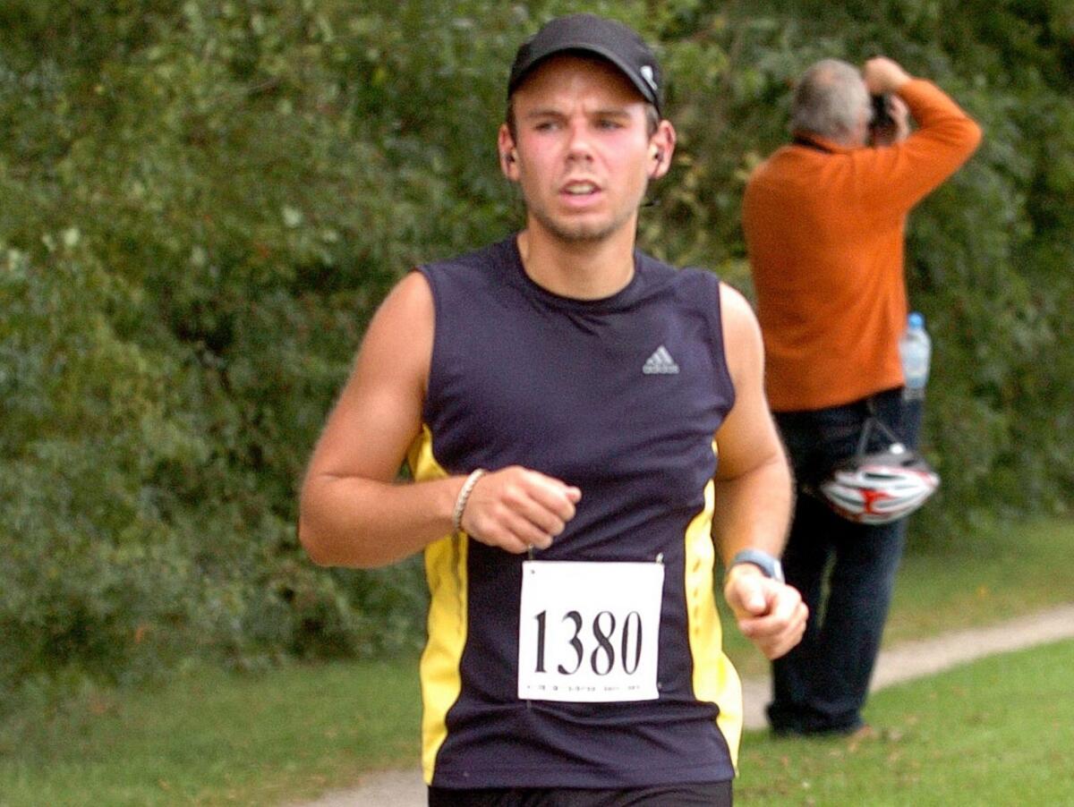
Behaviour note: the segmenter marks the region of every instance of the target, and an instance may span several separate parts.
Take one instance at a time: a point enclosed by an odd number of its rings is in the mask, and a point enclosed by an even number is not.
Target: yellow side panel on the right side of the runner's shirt
[[[716,453],[713,441],[712,451]],[[716,612],[712,569],[715,547],[712,543],[712,513],[715,485],[705,487],[705,510],[686,527],[685,591],[690,619],[690,649],[694,658],[694,696],[720,707],[720,727],[731,763],[738,767],[739,740],[742,737],[742,683],[730,659],[723,652],[723,631]]]

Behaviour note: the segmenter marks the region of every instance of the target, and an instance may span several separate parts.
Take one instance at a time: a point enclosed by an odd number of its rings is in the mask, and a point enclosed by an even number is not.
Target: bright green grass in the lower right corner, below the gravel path
[[[874,739],[748,733],[736,801],[765,805],[1074,804],[1074,642],[881,690]]]

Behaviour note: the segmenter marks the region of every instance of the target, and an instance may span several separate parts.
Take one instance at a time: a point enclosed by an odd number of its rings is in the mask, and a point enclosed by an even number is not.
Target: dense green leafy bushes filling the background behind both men
[[[368,318],[521,222],[507,65],[589,10],[657,43],[680,134],[642,246],[749,293],[739,202],[811,61],[886,53],[985,143],[912,216],[942,500],[1074,487],[1074,13],[1064,0],[10,0],[0,8],[0,684],[420,637],[417,562],[311,567],[295,489]]]

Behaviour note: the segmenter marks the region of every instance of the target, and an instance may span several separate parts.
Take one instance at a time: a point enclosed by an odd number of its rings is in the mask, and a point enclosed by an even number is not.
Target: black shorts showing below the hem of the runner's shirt
[[[580,788],[429,789],[429,807],[730,807],[731,783],[657,784],[624,790]]]

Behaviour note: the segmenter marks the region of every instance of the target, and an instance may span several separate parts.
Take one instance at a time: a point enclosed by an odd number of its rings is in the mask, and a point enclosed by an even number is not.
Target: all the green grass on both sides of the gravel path
[[[1074,524],[1036,522],[913,547],[888,640],[1070,601],[1072,545]],[[734,626],[727,634],[746,674],[764,670]],[[867,717],[888,731],[873,743],[748,734],[740,801],[1074,804],[1061,790],[1074,747],[1072,656],[1062,644],[883,690]],[[200,670],[162,689],[90,691],[0,725],[0,807],[294,803],[365,772],[416,766],[418,720],[413,658],[258,676]]]

